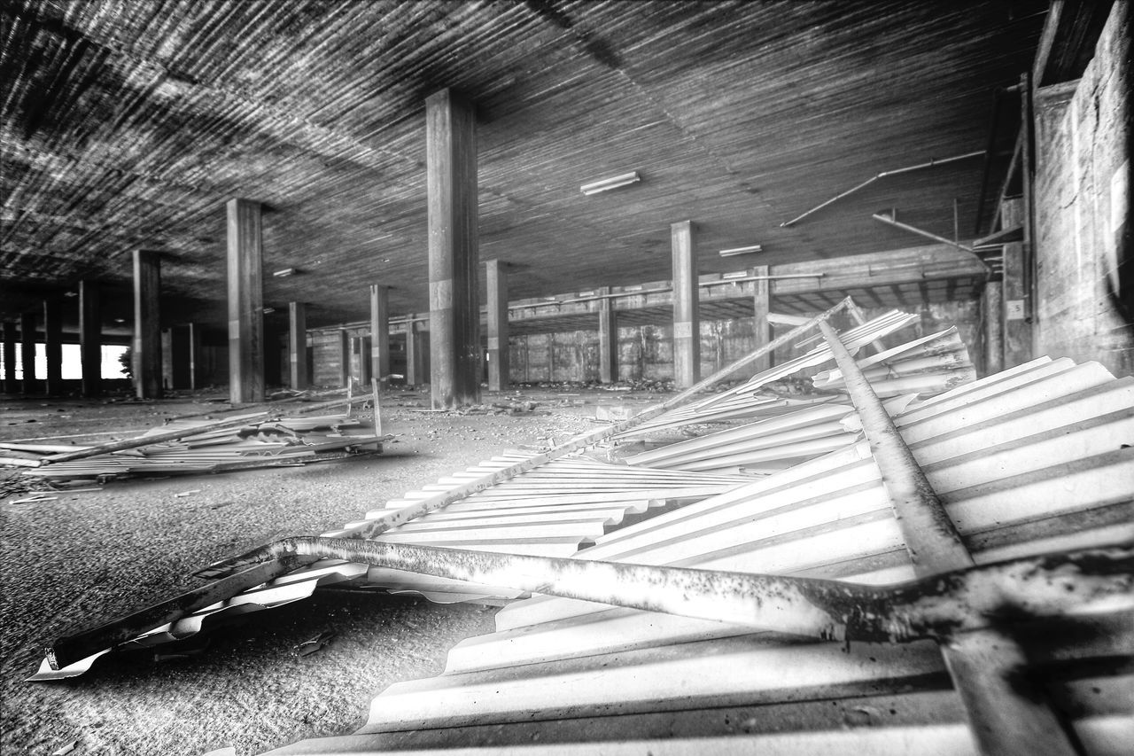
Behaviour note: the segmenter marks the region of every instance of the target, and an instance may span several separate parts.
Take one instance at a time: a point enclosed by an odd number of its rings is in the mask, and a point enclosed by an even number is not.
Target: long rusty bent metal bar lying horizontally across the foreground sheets
[[[225,594],[236,595],[320,558],[509,586],[821,640],[866,642],[951,639],[995,624],[1008,610],[1014,616],[1031,619],[1060,616],[1072,608],[1092,606],[1112,611],[1115,598],[1129,599],[1134,586],[1132,546],[1033,556],[895,586],[869,586],[310,536],[285,538],[245,554],[240,563],[253,566],[234,577],[122,620],[61,638],[49,650],[49,663],[54,669],[74,664],[223,600]],[[1134,606],[1134,600],[1126,603]]]

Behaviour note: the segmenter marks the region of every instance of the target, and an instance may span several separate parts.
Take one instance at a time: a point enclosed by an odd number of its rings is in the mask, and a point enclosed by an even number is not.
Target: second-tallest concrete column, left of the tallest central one
[[[228,393],[236,403],[264,400],[262,208],[251,200],[228,205]]]

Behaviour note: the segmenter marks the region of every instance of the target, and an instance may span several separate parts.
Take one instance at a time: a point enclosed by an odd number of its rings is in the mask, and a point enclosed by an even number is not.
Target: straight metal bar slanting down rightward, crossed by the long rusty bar
[[[823,322],[819,327],[858,411],[915,572],[931,577],[972,565],[973,558],[945,506],[858,364],[830,326]],[[1074,586],[1068,589],[1076,590]],[[1075,753],[1055,712],[1044,703],[1043,691],[1023,674],[1024,653],[1009,635],[983,630],[960,641],[947,640],[941,656],[982,753]]]

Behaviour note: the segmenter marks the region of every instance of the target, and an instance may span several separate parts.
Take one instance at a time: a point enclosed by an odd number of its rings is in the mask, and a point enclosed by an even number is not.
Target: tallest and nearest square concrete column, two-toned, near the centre
[[[430,385],[433,409],[479,404],[476,124],[449,90],[425,99]]]

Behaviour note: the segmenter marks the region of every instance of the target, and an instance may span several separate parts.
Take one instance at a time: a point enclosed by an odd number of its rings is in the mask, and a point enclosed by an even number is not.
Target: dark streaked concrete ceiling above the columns
[[[879,171],[984,149],[993,92],[1030,68],[1046,9],[5,2],[0,314],[82,278],[127,291],[147,249],[166,325],[220,326],[237,196],[268,208],[278,313],[297,300],[312,327],[361,320],[371,283],[393,287],[395,313],[428,310],[424,98],[446,86],[477,107],[481,259],[511,266],[514,299],[668,278],[684,219],[703,272],[919,243],[871,218],[891,208],[951,237],[956,200],[972,237],[980,158],[780,224]],[[579,192],[629,170],[638,184]],[[299,272],[270,276],[282,268]]]

